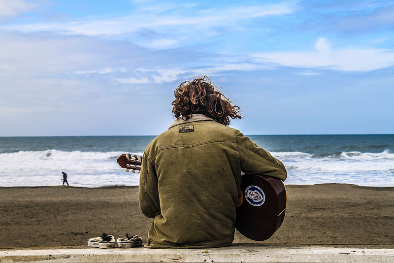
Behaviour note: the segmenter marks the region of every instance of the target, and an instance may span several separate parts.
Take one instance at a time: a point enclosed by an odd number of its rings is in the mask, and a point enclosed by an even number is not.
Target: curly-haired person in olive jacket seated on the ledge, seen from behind
[[[242,118],[208,78],[181,83],[177,118],[147,146],[139,180],[142,213],[154,218],[148,248],[209,248],[234,239],[241,171],[285,180],[284,165],[228,127]]]

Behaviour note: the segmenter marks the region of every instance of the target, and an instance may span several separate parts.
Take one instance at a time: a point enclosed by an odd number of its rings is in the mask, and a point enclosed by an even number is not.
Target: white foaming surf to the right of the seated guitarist
[[[272,153],[285,164],[288,184],[348,183],[394,186],[394,154],[340,152],[316,156],[300,152]]]

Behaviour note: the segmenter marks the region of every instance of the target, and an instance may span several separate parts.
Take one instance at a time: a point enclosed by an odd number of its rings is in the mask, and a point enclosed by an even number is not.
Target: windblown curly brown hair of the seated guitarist
[[[218,91],[207,76],[182,82],[174,95],[175,99],[171,104],[176,118],[182,115],[182,119],[187,120],[194,113],[199,113],[224,125],[230,124],[230,118],[242,118],[238,114],[239,106],[231,105],[233,101]]]

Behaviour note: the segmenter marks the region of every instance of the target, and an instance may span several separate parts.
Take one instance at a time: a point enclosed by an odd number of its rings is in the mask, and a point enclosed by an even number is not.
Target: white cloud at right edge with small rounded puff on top
[[[328,68],[343,71],[370,71],[394,66],[394,52],[377,48],[331,50],[325,38],[319,38],[317,52],[266,52],[254,54],[257,62],[302,68]]]

